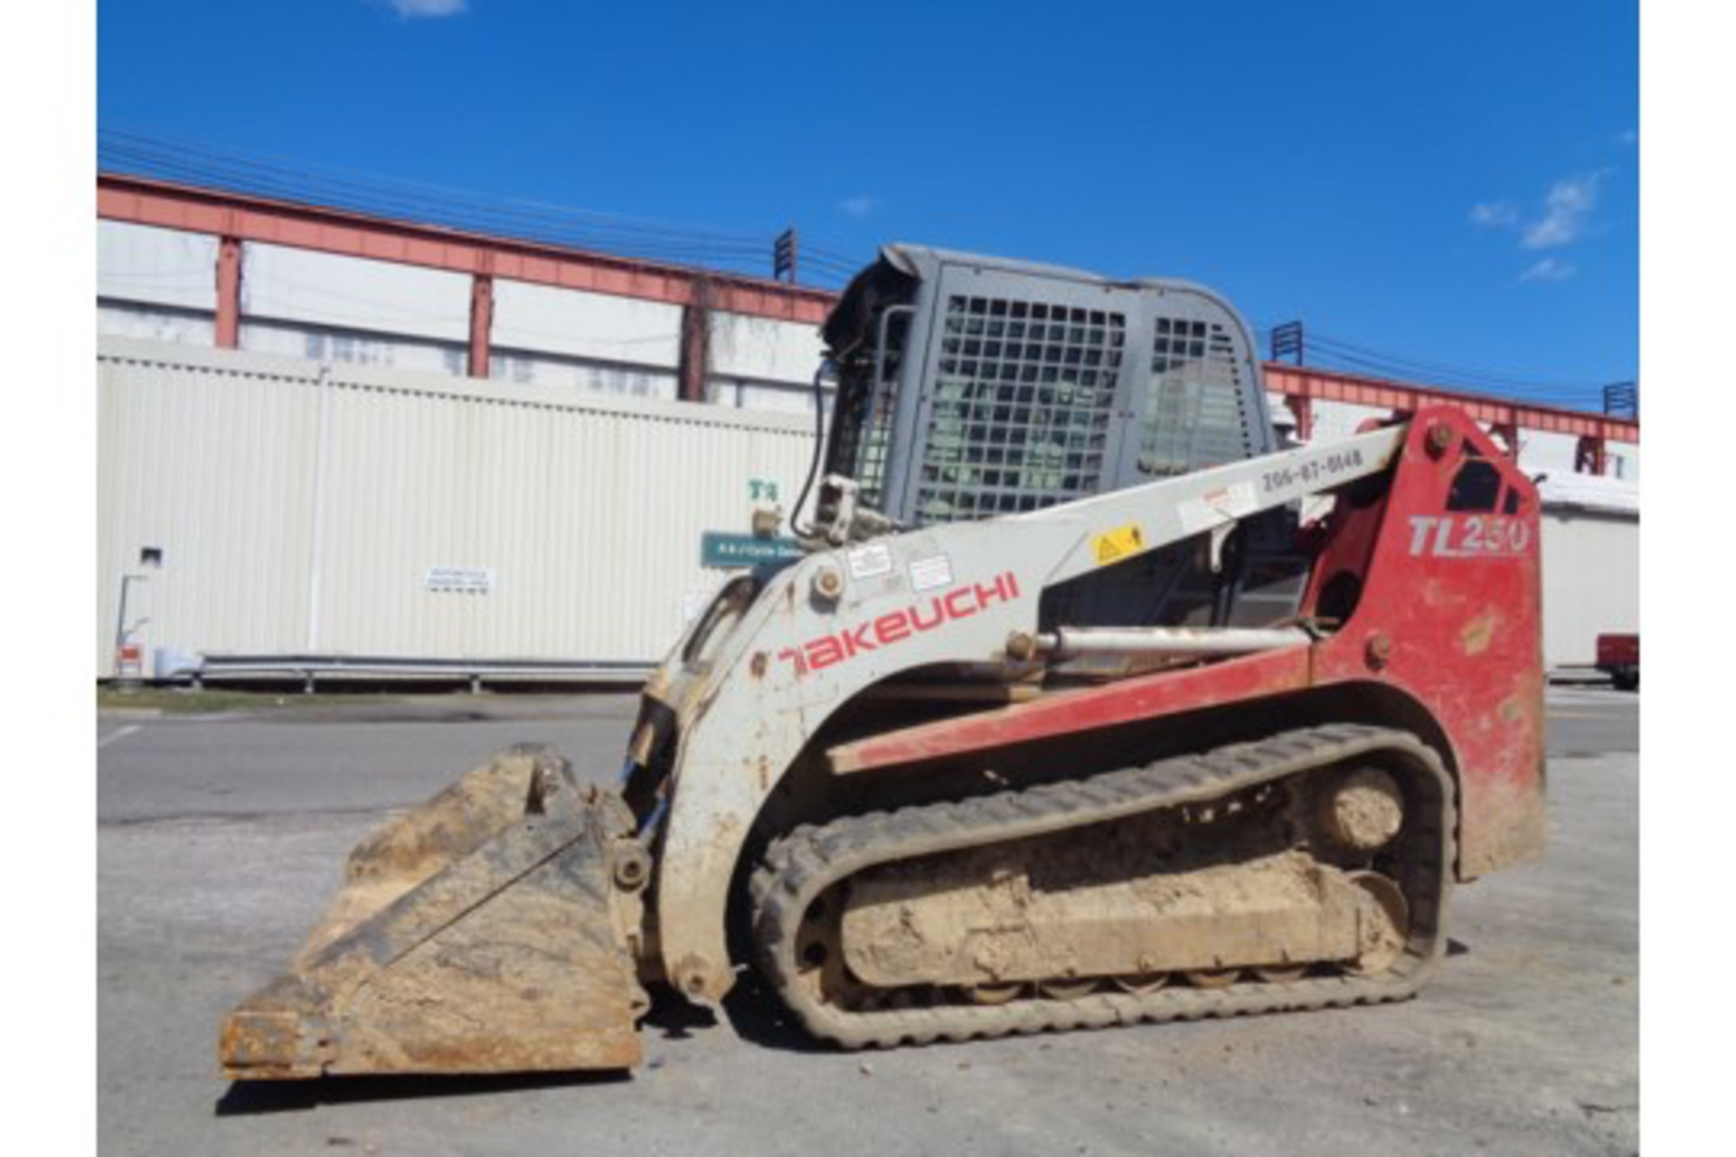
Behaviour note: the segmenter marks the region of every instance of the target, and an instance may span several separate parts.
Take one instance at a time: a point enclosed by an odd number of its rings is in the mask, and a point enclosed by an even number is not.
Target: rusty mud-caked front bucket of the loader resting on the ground
[[[545,748],[469,772],[356,848],[293,971],[224,1018],[224,1075],[637,1065],[632,831]]]

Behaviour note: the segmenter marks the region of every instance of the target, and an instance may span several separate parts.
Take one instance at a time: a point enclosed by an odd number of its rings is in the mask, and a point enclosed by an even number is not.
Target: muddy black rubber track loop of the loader
[[[1330,975],[1290,984],[1246,980],[1217,990],[1172,985],[1142,994],[1099,990],[1075,999],[1033,996],[1007,1004],[861,1011],[821,1003],[797,982],[802,912],[826,888],[854,873],[892,860],[1203,803],[1371,753],[1401,756],[1403,767],[1396,770],[1422,793],[1424,801],[1415,820],[1422,827],[1406,833],[1406,840],[1425,841],[1430,852],[1437,852],[1430,864],[1420,866],[1424,886],[1406,888],[1411,928],[1404,956],[1378,977]],[[1430,748],[1410,732],[1333,723],[1090,779],[799,827],[767,848],[750,883],[753,938],[767,978],[807,1030],[845,1048],[1399,1001],[1415,996],[1441,958],[1453,831],[1451,779]]]

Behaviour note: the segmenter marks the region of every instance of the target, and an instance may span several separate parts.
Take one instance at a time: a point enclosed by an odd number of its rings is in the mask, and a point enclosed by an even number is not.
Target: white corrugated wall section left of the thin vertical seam
[[[120,579],[144,572],[139,642],[295,650],[307,621],[314,366],[102,338],[97,343],[97,673],[111,671]],[[160,571],[139,553],[163,552]],[[146,656],[146,671],[151,656]]]

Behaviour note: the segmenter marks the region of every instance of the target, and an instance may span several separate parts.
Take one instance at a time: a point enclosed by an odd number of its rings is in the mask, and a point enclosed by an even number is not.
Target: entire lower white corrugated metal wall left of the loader
[[[102,338],[95,668],[120,576],[158,649],[651,663],[746,533],[795,494],[812,430],[779,415]],[[434,567],[488,593],[427,590]]]

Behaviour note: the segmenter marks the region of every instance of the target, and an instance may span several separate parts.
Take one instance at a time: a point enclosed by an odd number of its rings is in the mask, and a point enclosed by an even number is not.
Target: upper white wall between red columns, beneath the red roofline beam
[[[217,239],[208,234],[97,222],[97,330],[210,343]],[[462,375],[470,279],[309,250],[247,243],[241,347],[266,354]],[[681,307],[512,279],[495,281],[491,376],[674,399]],[[812,413],[807,390],[823,343],[818,326],[712,314],[708,390],[740,409]],[[1286,420],[1281,399],[1272,413]],[[1316,437],[1347,437],[1385,411],[1316,404]],[[1575,439],[1526,432],[1521,467],[1573,470]],[[1609,446],[1611,474],[1639,479],[1639,448]]]

